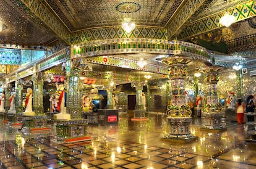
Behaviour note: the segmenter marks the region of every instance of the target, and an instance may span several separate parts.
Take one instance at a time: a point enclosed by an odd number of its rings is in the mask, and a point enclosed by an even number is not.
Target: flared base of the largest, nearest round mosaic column
[[[192,136],[189,131],[189,125],[192,117],[167,117],[171,131],[167,136],[161,139],[172,142],[186,143],[195,141],[198,137]]]

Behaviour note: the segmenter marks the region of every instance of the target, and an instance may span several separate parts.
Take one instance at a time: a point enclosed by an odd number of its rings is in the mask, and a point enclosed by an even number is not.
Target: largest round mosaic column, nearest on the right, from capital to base
[[[187,76],[188,57],[169,57],[162,62],[168,65],[169,78],[171,81],[171,101],[168,102],[166,111],[167,121],[170,125],[170,133],[163,139],[176,141],[194,141],[190,135],[189,125],[192,122],[191,110],[187,104],[184,82]]]

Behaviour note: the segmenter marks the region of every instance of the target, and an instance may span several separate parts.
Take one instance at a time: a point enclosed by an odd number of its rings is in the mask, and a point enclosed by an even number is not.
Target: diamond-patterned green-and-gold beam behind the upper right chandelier
[[[186,39],[195,35],[205,33],[223,27],[220,23],[220,18],[228,11],[229,14],[236,17],[236,22],[254,17],[256,15],[256,5],[254,1],[245,2],[235,7],[224,10],[218,14],[205,17],[187,25],[178,35],[178,39]],[[192,30],[191,30],[192,28]]]

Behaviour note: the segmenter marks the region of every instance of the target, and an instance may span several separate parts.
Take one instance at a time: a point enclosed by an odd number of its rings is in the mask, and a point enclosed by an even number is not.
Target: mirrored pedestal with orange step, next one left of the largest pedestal
[[[47,127],[47,117],[42,116],[24,116],[23,115],[23,126],[22,131],[38,132],[38,131],[49,131]]]

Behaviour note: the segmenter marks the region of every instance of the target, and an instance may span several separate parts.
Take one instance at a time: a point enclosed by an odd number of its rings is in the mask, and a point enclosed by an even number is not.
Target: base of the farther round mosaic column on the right
[[[221,120],[224,113],[207,113],[202,112],[202,128],[201,131],[225,131],[226,128],[223,126]]]

